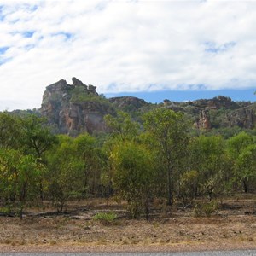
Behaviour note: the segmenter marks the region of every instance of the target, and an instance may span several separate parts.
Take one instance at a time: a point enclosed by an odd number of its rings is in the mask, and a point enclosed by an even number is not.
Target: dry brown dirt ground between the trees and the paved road
[[[210,218],[193,209],[158,208],[147,221],[130,219],[113,201],[69,204],[67,214],[26,210],[25,217],[0,217],[0,252],[148,252],[256,248],[256,196],[225,199]],[[44,209],[44,212],[50,212]],[[51,209],[52,211],[52,209]],[[116,212],[111,223],[96,212]]]

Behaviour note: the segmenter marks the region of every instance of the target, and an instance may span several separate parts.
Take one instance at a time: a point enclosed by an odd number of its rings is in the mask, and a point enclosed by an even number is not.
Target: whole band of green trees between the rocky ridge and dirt
[[[246,131],[201,134],[168,108],[141,123],[125,112],[105,121],[108,134],[69,137],[35,115],[0,113],[1,211],[22,218],[28,202],[52,201],[61,212],[67,201],[115,196],[131,217],[148,218],[155,199],[193,207],[199,196],[256,189],[256,137]]]

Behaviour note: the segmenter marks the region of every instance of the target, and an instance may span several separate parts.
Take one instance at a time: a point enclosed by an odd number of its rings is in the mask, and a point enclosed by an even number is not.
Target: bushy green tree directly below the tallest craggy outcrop
[[[77,154],[72,137],[59,136],[59,143],[47,152],[48,190],[58,212],[68,200],[81,197],[84,188],[84,162]]]

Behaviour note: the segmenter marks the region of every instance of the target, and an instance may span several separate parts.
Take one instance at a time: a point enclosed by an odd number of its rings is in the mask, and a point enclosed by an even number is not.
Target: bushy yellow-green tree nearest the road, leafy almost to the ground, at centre
[[[112,154],[113,188],[119,199],[128,202],[133,218],[149,214],[149,198],[154,177],[154,161],[150,152],[132,142],[119,143]]]

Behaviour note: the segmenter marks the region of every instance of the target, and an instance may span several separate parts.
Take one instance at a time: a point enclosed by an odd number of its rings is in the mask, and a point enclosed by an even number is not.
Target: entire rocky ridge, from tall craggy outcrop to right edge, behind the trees
[[[234,127],[253,129],[256,124],[256,104],[233,102],[230,97],[216,96],[192,102],[171,102],[151,104],[132,96],[106,99],[96,92],[96,86],[84,84],[73,78],[73,84],[61,79],[46,87],[40,113],[49,121],[56,133],[77,135],[87,131],[90,134],[107,131],[104,122],[106,114],[115,115],[122,110],[135,116],[153,108],[170,108],[185,113],[194,123],[194,128]]]

